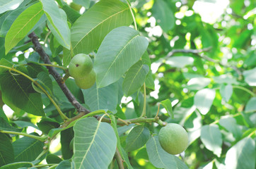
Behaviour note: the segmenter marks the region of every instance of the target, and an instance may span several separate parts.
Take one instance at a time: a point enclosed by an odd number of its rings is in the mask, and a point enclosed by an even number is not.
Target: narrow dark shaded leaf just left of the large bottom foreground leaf
[[[70,159],[73,156],[73,146],[71,140],[74,138],[73,128],[68,128],[60,133],[60,142],[62,144],[62,158],[64,160]]]

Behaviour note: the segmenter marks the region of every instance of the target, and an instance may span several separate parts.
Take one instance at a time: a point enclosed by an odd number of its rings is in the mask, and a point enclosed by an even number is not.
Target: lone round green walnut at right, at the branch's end
[[[158,139],[162,148],[173,155],[182,153],[188,146],[186,130],[175,123],[168,123],[168,125],[162,127]]]

